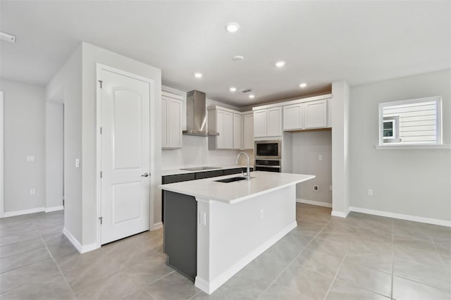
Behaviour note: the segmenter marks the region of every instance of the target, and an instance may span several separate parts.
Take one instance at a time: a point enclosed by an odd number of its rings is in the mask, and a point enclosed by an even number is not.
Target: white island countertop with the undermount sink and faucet
[[[224,178],[236,177],[237,175],[226,175],[211,177],[201,180],[190,180],[185,182],[159,185],[160,189],[195,196],[199,199],[221,201],[228,204],[237,203],[259,194],[266,194],[277,189],[282,189],[299,182],[314,178],[314,175],[252,172],[251,180],[240,180],[237,182],[216,182]]]

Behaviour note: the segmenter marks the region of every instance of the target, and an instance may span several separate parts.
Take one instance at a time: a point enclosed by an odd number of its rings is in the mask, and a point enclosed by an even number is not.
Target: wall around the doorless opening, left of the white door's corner
[[[82,241],[82,47],[78,46],[45,90],[46,101],[64,102],[64,227]]]

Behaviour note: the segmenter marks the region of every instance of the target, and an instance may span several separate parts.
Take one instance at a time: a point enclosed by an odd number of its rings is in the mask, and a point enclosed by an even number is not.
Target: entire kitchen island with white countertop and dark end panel
[[[211,294],[296,223],[295,185],[314,175],[253,172],[160,185],[168,265]]]

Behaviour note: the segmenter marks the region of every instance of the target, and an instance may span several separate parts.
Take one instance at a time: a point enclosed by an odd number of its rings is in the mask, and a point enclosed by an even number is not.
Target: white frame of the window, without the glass
[[[402,142],[397,143],[390,143],[387,142],[384,143],[383,138],[383,108],[386,106],[396,106],[396,105],[402,105],[402,104],[417,104],[421,102],[432,102],[435,101],[436,103],[436,120],[437,120],[437,139],[435,142],[431,143],[418,143],[418,144],[402,144]],[[379,104],[379,144],[378,147],[390,147],[390,146],[397,146],[400,148],[404,147],[414,147],[414,146],[440,146],[443,145],[443,132],[442,132],[442,97],[441,96],[432,96],[432,97],[426,97],[426,98],[418,98],[418,99],[409,99],[409,100],[402,100],[402,101],[391,101],[391,102],[383,102]]]

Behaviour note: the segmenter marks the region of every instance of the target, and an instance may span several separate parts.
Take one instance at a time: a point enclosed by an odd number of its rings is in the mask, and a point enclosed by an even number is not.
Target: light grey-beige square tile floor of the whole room
[[[0,299],[451,299],[451,228],[297,204],[298,227],[207,295],[162,230],[78,254],[63,213],[0,219]]]

